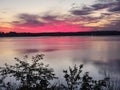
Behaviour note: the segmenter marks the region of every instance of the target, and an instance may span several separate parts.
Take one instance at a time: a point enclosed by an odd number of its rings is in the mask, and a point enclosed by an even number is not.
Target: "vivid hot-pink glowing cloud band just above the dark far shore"
[[[46,24],[44,26],[28,27],[28,26],[14,26],[15,32],[31,32],[31,33],[42,33],[42,32],[86,32],[93,30],[92,28],[83,27],[76,24],[66,22],[56,22],[53,24]]]

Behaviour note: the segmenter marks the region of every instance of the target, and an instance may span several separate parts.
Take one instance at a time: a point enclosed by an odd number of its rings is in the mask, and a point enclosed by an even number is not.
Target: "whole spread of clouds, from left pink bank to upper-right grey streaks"
[[[120,30],[120,1],[105,0],[89,6],[79,7],[75,4],[71,6],[67,14],[47,13],[29,14],[20,13],[16,15],[16,20],[11,22],[14,30],[36,32],[69,32],[89,31],[89,30]]]

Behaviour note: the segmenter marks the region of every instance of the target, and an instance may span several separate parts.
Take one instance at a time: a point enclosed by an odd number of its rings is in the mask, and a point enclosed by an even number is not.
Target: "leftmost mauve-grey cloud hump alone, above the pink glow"
[[[45,23],[40,21],[38,15],[20,14],[17,16],[18,21],[13,21],[15,25],[23,26],[43,26]]]

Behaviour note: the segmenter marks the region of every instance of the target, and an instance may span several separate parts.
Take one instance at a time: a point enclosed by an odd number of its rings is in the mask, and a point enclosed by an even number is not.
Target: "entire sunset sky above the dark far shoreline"
[[[120,31],[120,0],[0,0],[0,32]]]

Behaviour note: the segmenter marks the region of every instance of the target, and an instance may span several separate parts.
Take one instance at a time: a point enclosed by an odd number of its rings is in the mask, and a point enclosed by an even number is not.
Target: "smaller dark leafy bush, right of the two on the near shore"
[[[69,73],[67,70],[64,70],[64,78],[67,82],[68,90],[103,90],[103,87],[107,86],[109,78],[104,78],[103,80],[94,80],[89,76],[88,72],[82,74],[83,65],[80,65],[79,68],[75,65],[73,68],[69,67]]]

